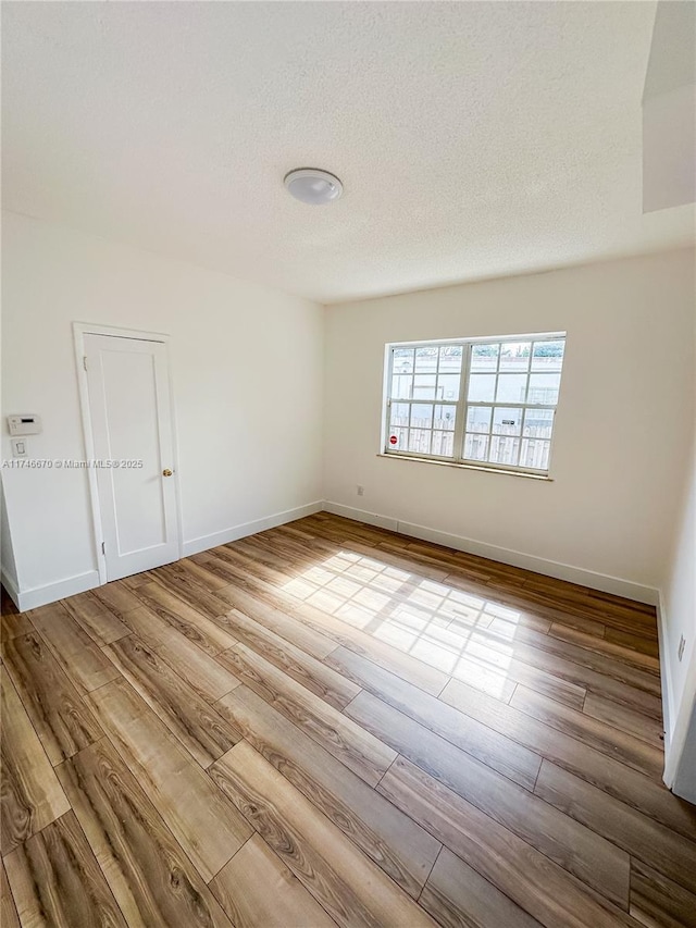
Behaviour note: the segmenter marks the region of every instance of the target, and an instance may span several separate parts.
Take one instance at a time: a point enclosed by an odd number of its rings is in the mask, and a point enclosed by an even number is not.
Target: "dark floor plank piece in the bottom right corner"
[[[629,911],[647,928],[696,928],[696,895],[634,859]]]

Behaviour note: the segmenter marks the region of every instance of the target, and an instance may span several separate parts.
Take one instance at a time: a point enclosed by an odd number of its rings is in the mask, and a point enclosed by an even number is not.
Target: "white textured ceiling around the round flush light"
[[[641,212],[652,2],[2,8],[7,209],[324,302],[693,238]]]

